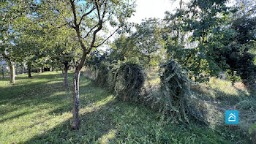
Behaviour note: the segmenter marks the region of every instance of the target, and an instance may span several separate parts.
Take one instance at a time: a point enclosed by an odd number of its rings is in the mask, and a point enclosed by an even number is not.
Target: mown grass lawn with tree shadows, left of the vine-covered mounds
[[[0,143],[252,143],[233,127],[167,124],[83,76],[80,129],[71,130],[72,88],[63,88],[60,73],[18,75],[13,85],[0,80]]]

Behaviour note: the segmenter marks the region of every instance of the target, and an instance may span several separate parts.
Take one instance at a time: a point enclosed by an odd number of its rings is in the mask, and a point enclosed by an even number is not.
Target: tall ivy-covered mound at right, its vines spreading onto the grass
[[[171,115],[170,119],[178,123],[190,118],[203,121],[203,115],[189,106],[190,96],[189,79],[187,72],[176,61],[170,60],[161,66],[161,94],[151,94],[148,101],[151,107],[157,107],[159,112]]]

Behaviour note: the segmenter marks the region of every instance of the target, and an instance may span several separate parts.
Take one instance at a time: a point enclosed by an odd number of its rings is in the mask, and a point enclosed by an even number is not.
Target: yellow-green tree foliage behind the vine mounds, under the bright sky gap
[[[156,67],[165,59],[161,24],[156,18],[143,20],[136,31],[126,37],[121,35],[110,48],[110,60],[140,64],[144,68]]]

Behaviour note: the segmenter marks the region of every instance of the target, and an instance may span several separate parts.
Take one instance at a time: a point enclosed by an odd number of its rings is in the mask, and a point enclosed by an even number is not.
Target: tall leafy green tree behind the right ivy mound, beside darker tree
[[[176,14],[167,13],[165,21],[167,33],[166,48],[173,58],[187,67],[196,80],[207,80],[208,77],[218,76],[228,65],[225,58],[216,61],[219,51],[227,47],[222,45],[226,26],[230,24],[230,11],[222,1],[190,1],[182,5]],[[183,4],[181,2],[181,4]],[[177,23],[178,22],[178,23]]]

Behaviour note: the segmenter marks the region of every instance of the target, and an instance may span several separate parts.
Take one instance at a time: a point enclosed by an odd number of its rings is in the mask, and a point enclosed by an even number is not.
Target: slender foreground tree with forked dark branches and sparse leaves
[[[134,4],[129,1],[41,1],[50,7],[52,20],[61,26],[69,26],[75,31],[82,55],[75,61],[74,94],[72,108],[72,128],[79,128],[79,77],[87,55],[108,41],[116,31],[124,26],[125,20],[134,12]],[[70,16],[69,14],[72,14]],[[56,15],[56,16],[54,16]],[[58,21],[56,21],[58,20]],[[50,21],[49,18],[47,21]],[[51,21],[51,22],[53,22]],[[114,29],[110,31],[110,26]],[[111,32],[111,33],[110,33]]]

